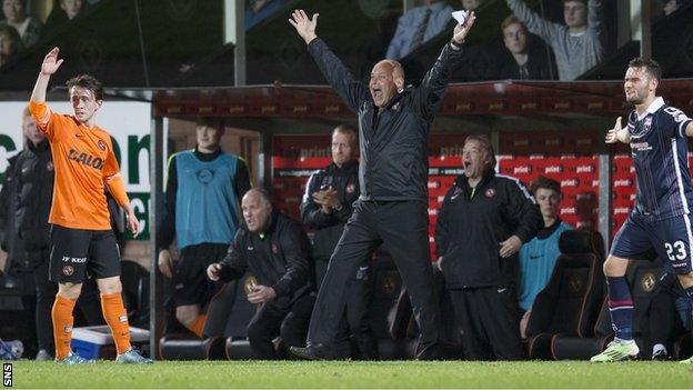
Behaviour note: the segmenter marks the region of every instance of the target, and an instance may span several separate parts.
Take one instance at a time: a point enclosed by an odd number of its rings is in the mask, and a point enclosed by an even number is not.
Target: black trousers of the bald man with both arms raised
[[[366,253],[379,246],[392,254],[408,289],[421,329],[420,351],[432,351],[439,339],[439,307],[429,254],[428,206],[422,201],[358,201],[346,222],[318,292],[308,342],[333,347],[342,316],[344,291]]]

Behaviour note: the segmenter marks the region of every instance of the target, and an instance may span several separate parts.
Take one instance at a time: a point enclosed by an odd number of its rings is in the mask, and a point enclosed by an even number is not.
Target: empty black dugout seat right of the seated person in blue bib
[[[551,359],[559,334],[589,337],[604,297],[604,241],[595,231],[566,231],[546,287],[536,296],[526,328],[530,359]]]

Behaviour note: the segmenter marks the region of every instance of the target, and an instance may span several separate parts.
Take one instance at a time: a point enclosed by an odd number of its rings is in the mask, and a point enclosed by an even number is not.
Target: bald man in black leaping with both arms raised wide
[[[438,357],[439,310],[428,239],[428,140],[448,79],[462,57],[461,46],[474,23],[471,13],[458,24],[421,86],[404,84],[402,66],[382,60],[369,86],[354,80],[315,34],[318,14],[297,10],[290,19],[332,88],[359,116],[361,196],[328,267],[308,334],[309,346],[292,349],[304,359],[331,359],[344,310],[344,289],[365,253],[381,243],[390,251],[410,292],[421,329],[420,359]]]

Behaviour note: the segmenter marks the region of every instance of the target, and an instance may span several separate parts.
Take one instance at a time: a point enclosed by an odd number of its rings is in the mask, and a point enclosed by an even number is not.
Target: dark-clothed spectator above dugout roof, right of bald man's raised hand
[[[551,72],[546,54],[531,44],[530,32],[511,14],[501,24],[503,43],[512,59],[502,61],[499,69],[499,79],[513,80],[549,80]]]

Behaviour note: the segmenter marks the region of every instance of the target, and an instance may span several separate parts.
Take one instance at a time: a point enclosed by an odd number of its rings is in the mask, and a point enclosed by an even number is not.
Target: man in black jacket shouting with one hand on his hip
[[[518,251],[543,219],[518,179],[495,173],[488,137],[468,137],[462,161],[464,174],[450,188],[438,214],[438,267],[462,327],[466,358],[519,360]]]

